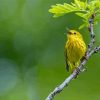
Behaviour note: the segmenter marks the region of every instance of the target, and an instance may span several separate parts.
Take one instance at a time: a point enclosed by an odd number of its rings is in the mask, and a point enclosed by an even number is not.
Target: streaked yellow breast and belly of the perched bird
[[[66,43],[68,60],[70,63],[77,63],[86,52],[86,45],[83,39],[71,37]]]

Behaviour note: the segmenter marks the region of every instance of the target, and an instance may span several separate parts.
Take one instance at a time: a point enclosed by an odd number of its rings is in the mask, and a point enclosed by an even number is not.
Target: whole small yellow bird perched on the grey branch
[[[76,30],[69,30],[67,38],[65,45],[66,69],[73,72],[86,53],[86,44],[82,35]]]

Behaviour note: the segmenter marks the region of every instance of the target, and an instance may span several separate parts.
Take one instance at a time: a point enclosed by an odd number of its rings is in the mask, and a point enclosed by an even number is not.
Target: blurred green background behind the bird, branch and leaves
[[[73,14],[52,18],[52,4],[72,0],[0,0],[0,100],[45,100],[69,75],[65,70],[66,27],[77,29]],[[96,45],[100,44],[95,26]],[[80,30],[89,43],[87,28]],[[87,71],[55,100],[100,100],[100,53]]]

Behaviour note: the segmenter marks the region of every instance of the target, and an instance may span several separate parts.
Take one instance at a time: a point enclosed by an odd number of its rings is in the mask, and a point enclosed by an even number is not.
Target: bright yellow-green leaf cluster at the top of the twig
[[[95,24],[100,20],[100,0],[74,0],[71,4],[56,4],[51,6],[49,12],[54,14],[53,17],[60,17],[71,12],[80,16],[83,19],[83,24],[79,27],[81,29],[88,26],[88,20],[93,14],[96,14]]]

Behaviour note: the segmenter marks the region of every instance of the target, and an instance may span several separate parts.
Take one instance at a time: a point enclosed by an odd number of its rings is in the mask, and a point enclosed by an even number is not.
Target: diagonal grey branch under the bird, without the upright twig
[[[95,47],[89,54],[86,55],[86,59],[84,59],[81,64],[79,65],[79,67],[77,67],[77,69],[75,69],[75,71],[68,77],[65,79],[65,81],[59,85],[58,87],[56,87],[54,89],[53,92],[51,92],[49,94],[49,96],[46,98],[46,100],[53,100],[54,96],[58,93],[60,93],[64,87],[68,86],[69,82],[74,79],[75,77],[77,77],[77,75],[80,74],[80,72],[83,72],[84,70],[84,65],[86,64],[87,60],[94,54],[97,53],[98,51],[100,51],[100,46]]]

